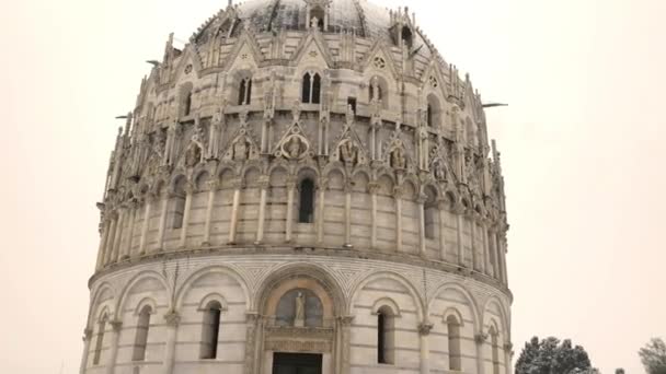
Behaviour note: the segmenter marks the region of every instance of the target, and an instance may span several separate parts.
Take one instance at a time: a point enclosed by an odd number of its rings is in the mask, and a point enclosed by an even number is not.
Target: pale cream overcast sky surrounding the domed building
[[[666,1],[409,4],[487,101],[503,155],[516,358],[572,338],[604,373],[643,373],[666,337]],[[76,373],[117,126],[170,32],[226,0],[0,2],[0,372]]]

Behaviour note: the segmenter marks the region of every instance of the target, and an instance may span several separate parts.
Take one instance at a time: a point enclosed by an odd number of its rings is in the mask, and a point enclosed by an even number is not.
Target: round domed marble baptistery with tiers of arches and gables
[[[229,2],[151,62],[80,373],[512,372],[500,153],[414,14]]]

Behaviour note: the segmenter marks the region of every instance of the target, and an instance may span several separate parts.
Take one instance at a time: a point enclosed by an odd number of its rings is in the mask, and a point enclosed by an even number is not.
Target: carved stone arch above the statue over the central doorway
[[[275,299],[279,300],[279,296],[269,300],[271,296],[276,293],[288,292],[291,289],[285,289],[284,284],[290,285],[289,281],[298,279],[310,279],[317,282],[321,289],[312,291],[322,303],[324,303],[324,300],[321,297],[321,291],[325,291],[328,297],[324,299],[330,299],[332,305],[323,305],[324,318],[328,317],[326,314],[331,314],[330,317],[341,317],[348,314],[347,300],[338,281],[326,269],[311,262],[288,264],[274,269],[259,285],[253,306],[260,313],[267,313],[268,308],[272,307],[268,303],[276,303]]]

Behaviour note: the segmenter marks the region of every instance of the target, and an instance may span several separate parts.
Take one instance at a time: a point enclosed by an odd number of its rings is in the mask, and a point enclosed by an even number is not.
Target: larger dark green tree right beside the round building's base
[[[525,343],[516,362],[516,374],[583,374],[595,373],[589,357],[581,346],[555,337],[539,340],[533,337]]]

